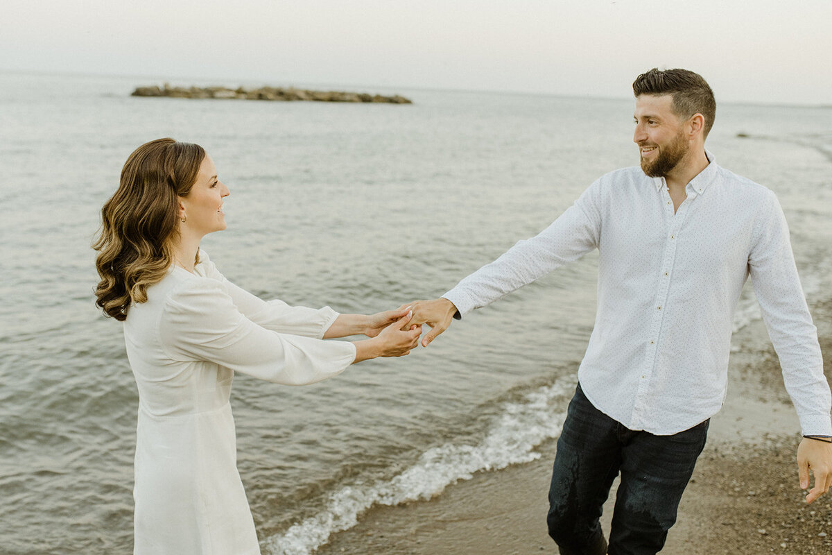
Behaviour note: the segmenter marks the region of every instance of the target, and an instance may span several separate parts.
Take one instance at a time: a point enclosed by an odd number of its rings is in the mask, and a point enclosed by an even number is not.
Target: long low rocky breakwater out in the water
[[[394,95],[384,97],[366,92],[310,91],[295,87],[171,87],[167,83],[158,87],[136,87],[132,97],[171,98],[220,98],[237,100],[311,101],[311,102],[384,102],[387,104],[412,104],[408,98]]]

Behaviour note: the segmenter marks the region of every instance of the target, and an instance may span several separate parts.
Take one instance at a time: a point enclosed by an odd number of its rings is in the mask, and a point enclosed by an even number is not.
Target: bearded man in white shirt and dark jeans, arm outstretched
[[[598,308],[557,441],[547,518],[566,555],[664,546],[726,392],[733,313],[751,277],[800,417],[801,488],[832,485],[830,389],[775,195],[705,149],[716,102],[694,72],[633,83],[641,167],[602,176],[546,230],[437,300],[413,304],[427,346],[453,318],[598,249]],[[599,523],[621,484],[609,544]],[[609,551],[607,552],[607,547]]]

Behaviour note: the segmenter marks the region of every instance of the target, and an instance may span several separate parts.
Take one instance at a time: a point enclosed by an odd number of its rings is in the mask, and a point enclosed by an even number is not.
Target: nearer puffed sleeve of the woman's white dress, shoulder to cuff
[[[222,283],[205,277],[171,291],[158,330],[172,359],[207,360],[278,384],[314,384],[355,359],[352,343],[266,329],[240,311]]]

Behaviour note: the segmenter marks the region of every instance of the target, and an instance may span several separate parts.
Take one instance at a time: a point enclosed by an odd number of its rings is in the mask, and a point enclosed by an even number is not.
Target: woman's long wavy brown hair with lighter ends
[[[191,192],[205,156],[199,145],[166,138],[146,142],[127,158],[92,245],[101,276],[96,305],[106,315],[126,320],[130,306],[146,302],[147,288],[165,277],[179,236],[177,197]]]

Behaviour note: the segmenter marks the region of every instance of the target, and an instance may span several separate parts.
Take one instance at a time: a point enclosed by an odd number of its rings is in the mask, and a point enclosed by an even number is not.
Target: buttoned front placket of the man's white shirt
[[[681,230],[682,222],[685,220],[688,208],[691,206],[693,198],[696,193],[693,191],[687,192],[687,198],[682,201],[679,210],[674,214],[673,201],[667,192],[664,185],[664,179],[661,187],[661,201],[664,205],[663,211],[665,216],[665,248],[661,255],[661,265],[659,266],[659,280],[656,288],[656,297],[653,300],[652,318],[650,320],[650,333],[647,336],[647,348],[644,365],[641,367],[641,374],[639,374],[638,387],[636,388],[636,399],[633,404],[633,412],[631,419],[631,429],[643,429],[649,419],[650,413],[650,384],[651,379],[656,371],[656,360],[658,359],[659,348],[662,339],[662,325],[665,321],[665,314],[667,312],[667,300],[671,289],[671,280],[673,279],[673,265],[676,261],[676,245],[679,239],[679,230]]]

